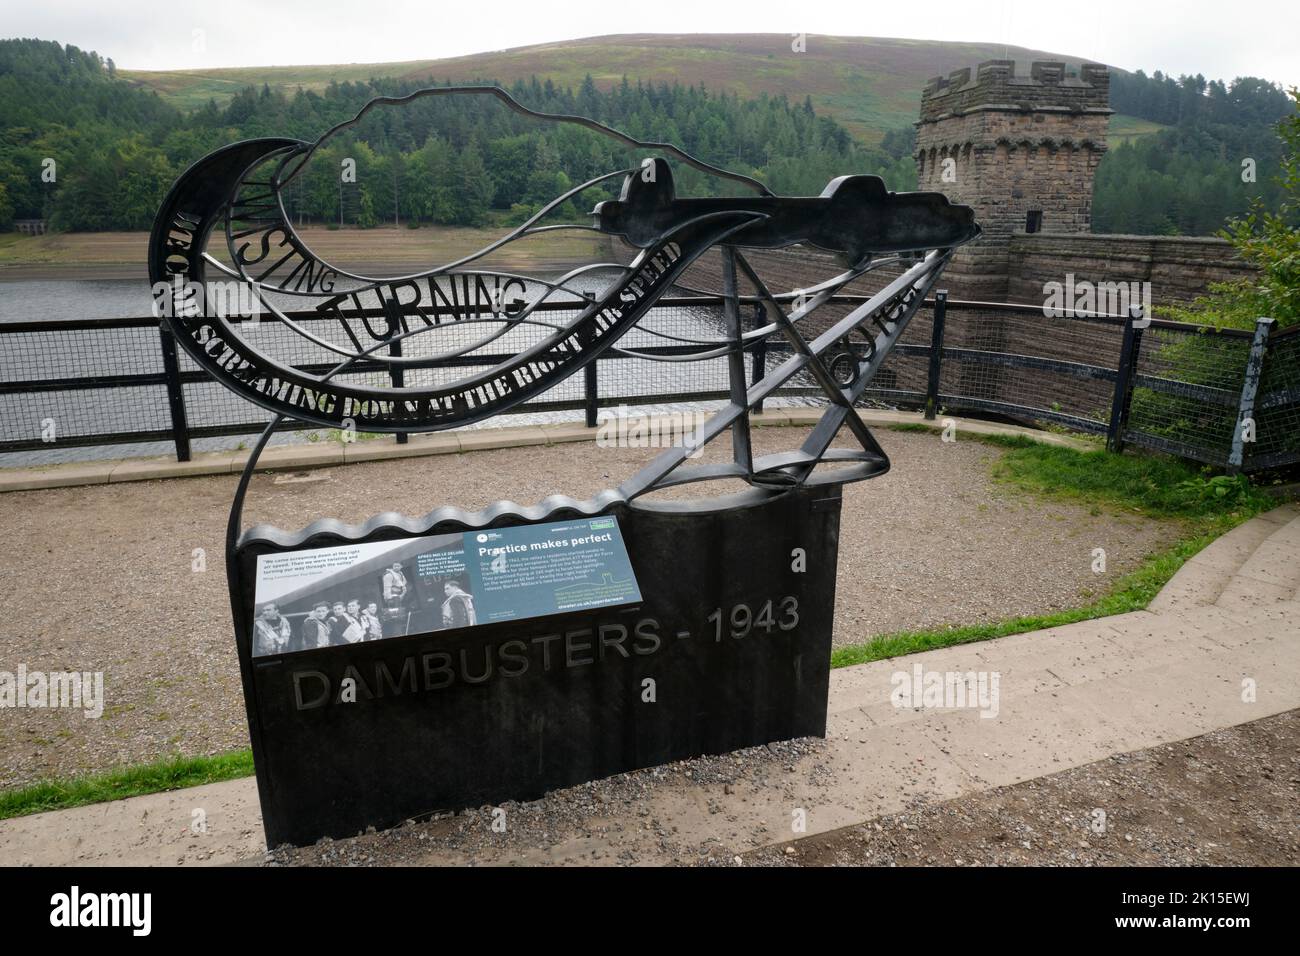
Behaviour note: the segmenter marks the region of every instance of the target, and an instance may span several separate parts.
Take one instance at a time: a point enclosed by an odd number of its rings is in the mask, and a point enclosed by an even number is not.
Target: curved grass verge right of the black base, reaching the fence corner
[[[931,429],[924,425],[898,425],[896,431]],[[1214,476],[1160,455],[1076,451],[1043,445],[1023,436],[961,436],[961,440],[1006,449],[1006,454],[993,464],[994,477],[1006,486],[1041,499],[1091,505],[1095,514],[1106,506],[1154,519],[1180,520],[1186,533],[1176,545],[1147,558],[1136,571],[1121,578],[1109,592],[1091,604],[989,624],[879,635],[862,644],[836,648],[831,654],[832,667],[849,667],[1141,610],[1197,551],[1242,522],[1278,503],[1244,477]]]

